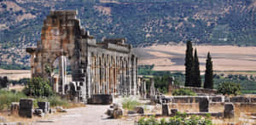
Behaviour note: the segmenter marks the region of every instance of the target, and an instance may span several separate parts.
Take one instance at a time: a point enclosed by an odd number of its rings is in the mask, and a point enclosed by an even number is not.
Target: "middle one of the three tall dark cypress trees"
[[[199,68],[199,60],[197,57],[197,52],[195,48],[194,54],[194,65],[193,65],[193,87],[201,88],[201,76],[200,76],[200,68]]]

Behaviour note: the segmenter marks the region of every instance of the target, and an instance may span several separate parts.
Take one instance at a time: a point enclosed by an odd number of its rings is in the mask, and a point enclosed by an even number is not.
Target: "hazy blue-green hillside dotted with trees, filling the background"
[[[97,41],[256,45],[256,0],[0,0],[2,64],[27,64],[22,48],[40,40],[53,9],[77,9],[81,25]]]

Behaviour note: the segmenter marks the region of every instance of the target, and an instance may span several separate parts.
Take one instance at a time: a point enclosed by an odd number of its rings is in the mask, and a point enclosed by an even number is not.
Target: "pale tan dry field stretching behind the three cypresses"
[[[256,71],[256,47],[194,45],[194,48],[197,49],[201,62],[201,71],[205,70],[209,51],[214,71]],[[184,71],[184,45],[154,45],[135,49],[140,58],[139,65],[154,64],[154,71]]]

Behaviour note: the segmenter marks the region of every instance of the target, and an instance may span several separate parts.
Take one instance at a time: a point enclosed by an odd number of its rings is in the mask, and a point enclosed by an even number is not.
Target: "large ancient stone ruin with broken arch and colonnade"
[[[31,54],[32,77],[49,79],[55,92],[87,102],[92,95],[137,95],[137,56],[125,38],[97,43],[84,31],[77,11],[51,11]],[[59,60],[59,73],[55,73]],[[70,62],[68,63],[67,60]],[[72,80],[67,80],[67,65]]]

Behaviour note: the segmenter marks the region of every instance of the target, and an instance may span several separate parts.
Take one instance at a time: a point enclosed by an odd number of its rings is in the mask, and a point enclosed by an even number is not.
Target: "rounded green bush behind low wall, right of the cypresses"
[[[222,82],[218,85],[218,94],[241,94],[241,84],[236,82]]]

